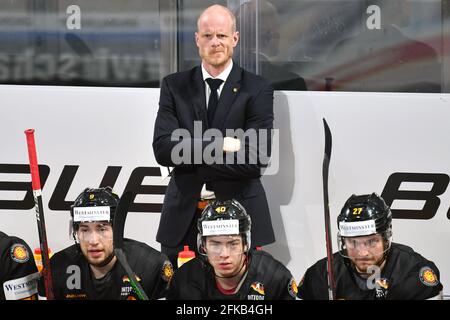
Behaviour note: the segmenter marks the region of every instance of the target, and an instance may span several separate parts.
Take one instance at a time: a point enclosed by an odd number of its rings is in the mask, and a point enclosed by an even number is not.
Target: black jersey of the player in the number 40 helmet
[[[235,294],[216,286],[214,270],[197,257],[175,271],[167,299],[176,300],[294,300],[297,284],[291,272],[269,253],[251,250],[248,272]]]

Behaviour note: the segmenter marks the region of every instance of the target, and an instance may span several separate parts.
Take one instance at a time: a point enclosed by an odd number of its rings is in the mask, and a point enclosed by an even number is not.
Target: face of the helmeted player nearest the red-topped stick
[[[113,231],[107,222],[81,223],[77,231],[81,251],[93,266],[100,266],[113,253]]]

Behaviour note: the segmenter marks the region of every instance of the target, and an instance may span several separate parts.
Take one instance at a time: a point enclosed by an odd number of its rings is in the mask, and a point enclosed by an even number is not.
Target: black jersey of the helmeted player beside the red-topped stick
[[[124,239],[124,252],[131,269],[150,299],[165,296],[173,268],[167,257],[152,247]],[[78,245],[70,246],[51,259],[55,299],[135,300],[130,280],[117,261],[101,279],[95,279]],[[42,282],[39,294],[42,295]]]

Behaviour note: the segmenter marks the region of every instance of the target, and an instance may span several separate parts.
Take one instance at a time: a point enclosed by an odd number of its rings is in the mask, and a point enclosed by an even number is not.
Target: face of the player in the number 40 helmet
[[[236,275],[245,262],[246,247],[239,235],[207,237],[205,251],[209,263],[220,277]]]

